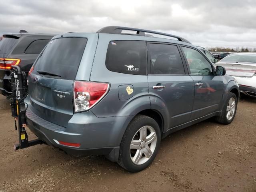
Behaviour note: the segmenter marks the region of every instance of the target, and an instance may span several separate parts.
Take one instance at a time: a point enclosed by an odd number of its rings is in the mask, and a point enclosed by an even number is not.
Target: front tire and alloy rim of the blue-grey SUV
[[[230,109],[230,111],[228,111],[228,106],[230,105],[229,104],[230,100],[235,101],[234,112],[231,109]],[[222,108],[221,116],[216,117],[217,122],[219,122],[221,124],[226,124],[226,125],[230,124],[234,120],[234,117],[236,116],[236,108],[237,108],[236,95],[234,93],[229,93],[228,97],[226,99],[226,102]],[[228,112],[230,113],[230,116],[232,115],[232,112],[233,112],[232,118],[228,118]]]

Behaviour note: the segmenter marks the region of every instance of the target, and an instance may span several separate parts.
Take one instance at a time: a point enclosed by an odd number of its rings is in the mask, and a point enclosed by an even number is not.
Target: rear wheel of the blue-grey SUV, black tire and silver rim
[[[134,140],[133,144],[132,140]],[[160,140],[160,128],[154,119],[144,115],[135,116],[122,138],[118,164],[129,172],[144,170],[156,157]]]

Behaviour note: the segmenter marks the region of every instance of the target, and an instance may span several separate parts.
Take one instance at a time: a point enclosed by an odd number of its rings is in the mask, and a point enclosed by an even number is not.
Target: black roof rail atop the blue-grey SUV
[[[186,40],[182,37],[176,36],[176,35],[161,33],[161,32],[157,32],[157,31],[150,31],[150,30],[145,30],[145,29],[130,28],[130,27],[107,26],[107,27],[104,27],[104,28],[101,28],[100,30],[98,30],[97,33],[125,34],[125,33],[122,33],[122,30],[136,31],[136,34],[132,34],[132,35],[146,36],[145,35],[145,32],[146,32],[146,33],[169,36],[169,37],[177,38],[179,41],[190,43],[188,40]],[[130,33],[126,33],[126,34],[130,34]]]

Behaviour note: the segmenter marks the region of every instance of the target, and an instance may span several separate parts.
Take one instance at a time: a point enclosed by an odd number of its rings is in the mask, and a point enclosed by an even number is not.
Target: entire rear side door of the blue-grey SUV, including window
[[[194,81],[176,44],[148,42],[148,86],[151,106],[168,113],[169,128],[190,120]]]

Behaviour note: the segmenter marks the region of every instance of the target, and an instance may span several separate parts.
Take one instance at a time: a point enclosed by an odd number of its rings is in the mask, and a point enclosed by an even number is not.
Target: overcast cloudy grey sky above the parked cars
[[[96,32],[127,26],[194,45],[256,47],[256,0],[2,0],[0,34]]]

